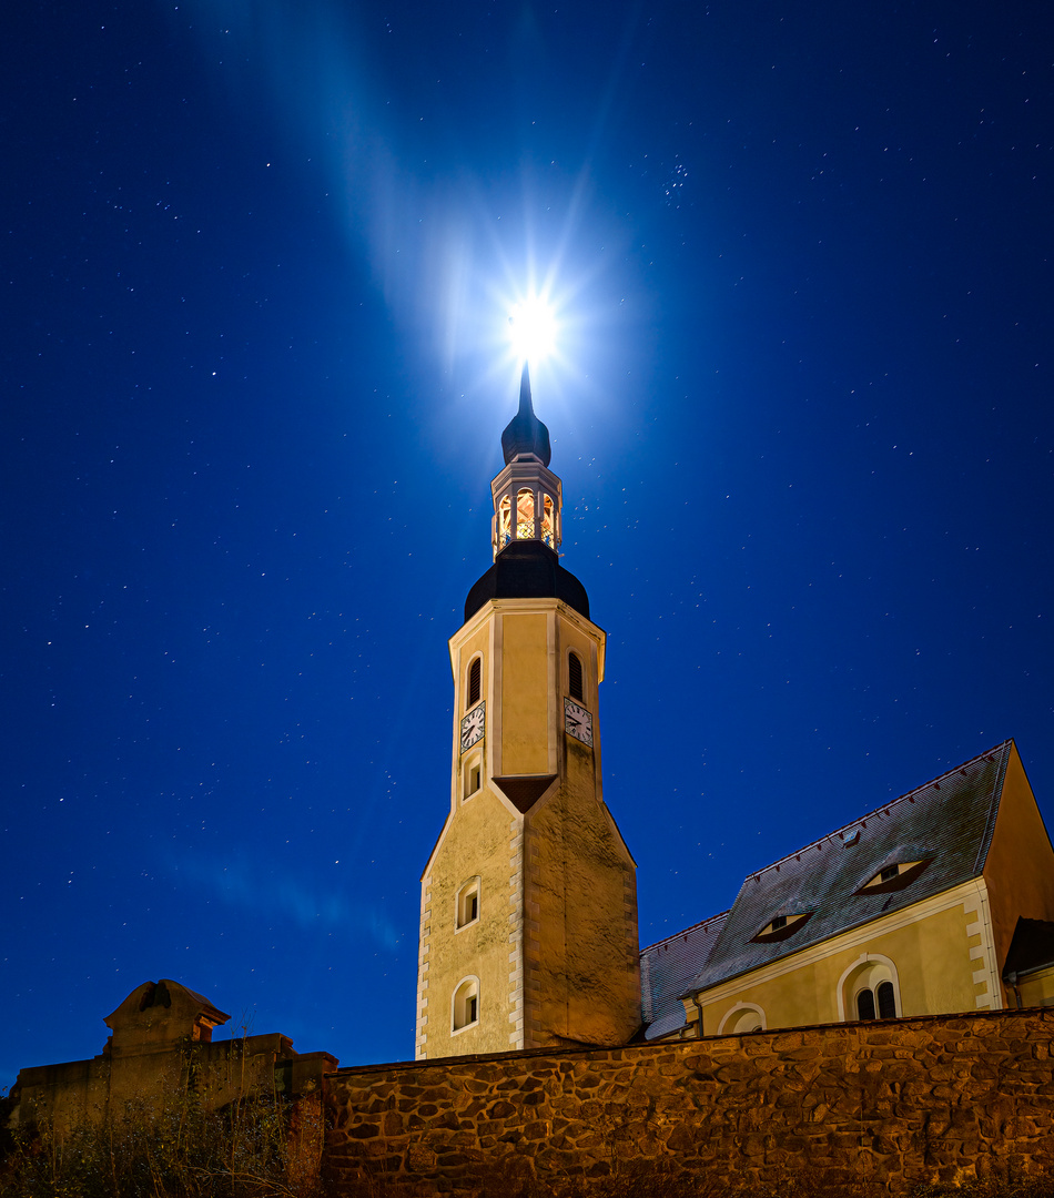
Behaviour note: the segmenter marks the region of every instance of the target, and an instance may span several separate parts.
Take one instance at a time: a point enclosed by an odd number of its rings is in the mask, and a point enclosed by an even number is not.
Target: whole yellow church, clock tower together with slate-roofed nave
[[[422,877],[417,1058],[1054,1002],[1054,851],[1011,740],[638,950],[635,864],[602,798],[606,637],[561,565],[561,480],[526,367],[502,449],[493,565],[450,639],[450,806]]]

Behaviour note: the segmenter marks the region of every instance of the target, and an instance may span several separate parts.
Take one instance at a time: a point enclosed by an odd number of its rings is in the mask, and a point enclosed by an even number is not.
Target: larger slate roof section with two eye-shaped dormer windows
[[[980,876],[1012,745],[1006,740],[751,873],[707,963],[684,993],[716,986]],[[929,865],[905,889],[856,894],[879,870],[927,858]],[[753,943],[774,916],[806,912],[810,919],[787,939]]]

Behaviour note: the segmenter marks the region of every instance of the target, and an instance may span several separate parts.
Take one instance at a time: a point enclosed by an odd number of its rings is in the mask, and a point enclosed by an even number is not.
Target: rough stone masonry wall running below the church
[[[344,1069],[326,1164],[347,1198],[1054,1176],[1052,1030],[993,1011]]]

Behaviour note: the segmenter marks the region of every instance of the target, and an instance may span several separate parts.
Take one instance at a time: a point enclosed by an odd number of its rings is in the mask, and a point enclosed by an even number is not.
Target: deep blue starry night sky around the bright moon
[[[1010,736],[1054,819],[1041,13],[5,13],[0,1085],[160,976],[412,1055],[531,261],[641,943]]]

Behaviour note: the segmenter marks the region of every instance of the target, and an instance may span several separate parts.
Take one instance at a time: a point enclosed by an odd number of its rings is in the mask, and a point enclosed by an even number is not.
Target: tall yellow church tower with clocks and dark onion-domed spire
[[[604,805],[605,633],[559,563],[561,480],[527,368],[491,483],[493,565],[450,637],[450,811],[422,876],[417,1055],[625,1043],[636,866]]]

